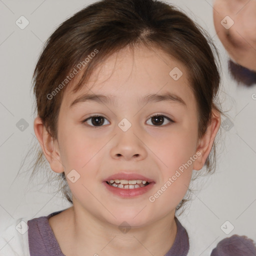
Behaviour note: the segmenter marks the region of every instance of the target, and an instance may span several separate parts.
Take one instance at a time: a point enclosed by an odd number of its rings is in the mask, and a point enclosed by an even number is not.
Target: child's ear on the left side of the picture
[[[46,130],[39,116],[34,119],[34,133],[40,143],[42,151],[50,164],[50,168],[55,172],[63,172],[58,144]]]

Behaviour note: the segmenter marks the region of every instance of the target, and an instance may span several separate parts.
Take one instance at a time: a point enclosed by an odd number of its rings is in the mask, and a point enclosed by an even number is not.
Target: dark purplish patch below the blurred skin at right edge
[[[231,59],[228,61],[228,71],[231,77],[239,83],[251,86],[256,83],[256,72],[241,66]]]

